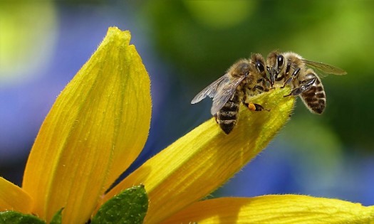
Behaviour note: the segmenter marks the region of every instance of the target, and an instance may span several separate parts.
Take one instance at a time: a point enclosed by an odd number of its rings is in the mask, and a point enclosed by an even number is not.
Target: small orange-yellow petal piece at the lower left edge
[[[33,200],[22,188],[0,177],[0,211],[30,213]]]

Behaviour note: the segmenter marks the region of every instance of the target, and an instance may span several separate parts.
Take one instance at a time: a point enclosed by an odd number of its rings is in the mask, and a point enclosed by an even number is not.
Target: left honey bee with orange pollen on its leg
[[[239,60],[226,74],[199,92],[191,103],[200,102],[207,96],[213,98],[210,112],[216,117],[219,127],[229,134],[237,124],[240,102],[251,111],[264,110],[261,105],[246,102],[247,96],[269,91],[270,80],[266,77],[264,64],[260,54]]]

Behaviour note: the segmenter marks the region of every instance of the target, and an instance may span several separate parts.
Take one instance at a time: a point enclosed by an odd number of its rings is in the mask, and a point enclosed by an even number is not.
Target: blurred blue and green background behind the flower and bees
[[[54,100],[118,26],[152,80],[150,136],[128,172],[211,117],[211,100],[190,101],[232,63],[292,50],[348,75],[323,78],[323,115],[298,100],[276,139],[212,197],[374,205],[373,24],[374,1],[0,1],[0,176],[21,184]]]

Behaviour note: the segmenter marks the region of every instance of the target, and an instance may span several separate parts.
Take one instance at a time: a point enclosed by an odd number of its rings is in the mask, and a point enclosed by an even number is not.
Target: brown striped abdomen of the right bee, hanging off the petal
[[[306,75],[308,79],[314,77],[316,77],[316,82],[306,92],[301,93],[301,99],[311,112],[322,114],[326,107],[326,94],[322,82],[317,75],[312,73]]]

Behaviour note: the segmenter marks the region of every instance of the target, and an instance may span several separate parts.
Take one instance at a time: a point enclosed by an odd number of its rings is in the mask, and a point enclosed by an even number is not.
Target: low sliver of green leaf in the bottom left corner
[[[0,212],[0,224],[46,224],[34,215],[19,213],[13,210]]]

